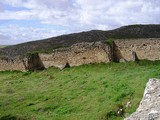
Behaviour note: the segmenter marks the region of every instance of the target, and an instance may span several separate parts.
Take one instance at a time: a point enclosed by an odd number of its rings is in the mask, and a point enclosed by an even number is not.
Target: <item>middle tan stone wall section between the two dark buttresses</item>
[[[63,69],[65,66],[110,62],[112,50],[109,45],[101,42],[83,42],[69,48],[57,49],[51,54],[40,53],[39,57],[45,68],[55,66]]]

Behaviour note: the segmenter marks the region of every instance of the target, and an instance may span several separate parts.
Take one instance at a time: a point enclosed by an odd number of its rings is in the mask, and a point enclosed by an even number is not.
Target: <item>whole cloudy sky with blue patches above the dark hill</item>
[[[160,24],[160,0],[0,0],[0,44]]]

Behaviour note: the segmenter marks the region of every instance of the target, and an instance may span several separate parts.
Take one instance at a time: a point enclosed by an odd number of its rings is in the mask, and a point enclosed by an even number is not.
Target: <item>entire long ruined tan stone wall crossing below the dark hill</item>
[[[63,69],[82,64],[136,59],[160,60],[160,38],[116,39],[113,45],[102,42],[77,43],[71,47],[55,49],[48,54],[39,53],[23,59],[0,59],[0,71],[35,70],[50,66]]]

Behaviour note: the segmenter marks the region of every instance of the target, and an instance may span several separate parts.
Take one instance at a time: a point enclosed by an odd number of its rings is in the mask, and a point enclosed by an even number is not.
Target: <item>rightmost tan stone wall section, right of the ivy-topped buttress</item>
[[[114,57],[134,61],[138,59],[160,60],[160,38],[114,40]]]

